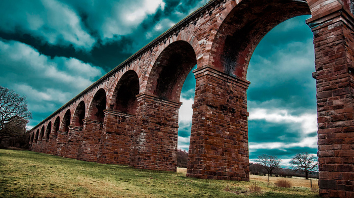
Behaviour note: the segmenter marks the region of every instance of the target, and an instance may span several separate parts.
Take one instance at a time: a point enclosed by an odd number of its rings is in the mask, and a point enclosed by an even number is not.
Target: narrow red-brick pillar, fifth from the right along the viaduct
[[[102,125],[102,122],[83,120],[82,142],[78,150],[77,160],[97,162]]]

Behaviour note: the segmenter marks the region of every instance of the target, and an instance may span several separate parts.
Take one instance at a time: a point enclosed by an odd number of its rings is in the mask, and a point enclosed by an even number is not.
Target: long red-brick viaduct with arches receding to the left
[[[249,181],[247,67],[279,23],[311,15],[320,195],[354,197],[352,0],[211,0],[29,131],[31,150],[176,171],[182,85],[196,78],[187,176]]]

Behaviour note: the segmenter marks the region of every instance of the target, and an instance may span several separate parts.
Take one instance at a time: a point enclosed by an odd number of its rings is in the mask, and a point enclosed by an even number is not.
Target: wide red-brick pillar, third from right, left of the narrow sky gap
[[[140,94],[137,100],[130,166],[176,171],[178,111],[182,103],[166,101],[149,94]]]

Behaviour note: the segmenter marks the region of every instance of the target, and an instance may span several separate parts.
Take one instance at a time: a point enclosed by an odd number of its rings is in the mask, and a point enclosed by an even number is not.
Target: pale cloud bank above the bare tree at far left
[[[0,66],[0,84],[25,95],[37,113],[52,113],[104,73],[74,58],[51,59],[18,41],[0,40]]]

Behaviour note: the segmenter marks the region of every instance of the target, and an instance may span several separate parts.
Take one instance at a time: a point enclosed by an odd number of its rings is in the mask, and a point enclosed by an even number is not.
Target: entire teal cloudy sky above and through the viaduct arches
[[[26,96],[32,128],[207,0],[0,1],[0,85]],[[310,16],[261,40],[247,79],[249,155],[317,153],[316,81]],[[181,149],[188,150],[195,78],[182,89]]]

